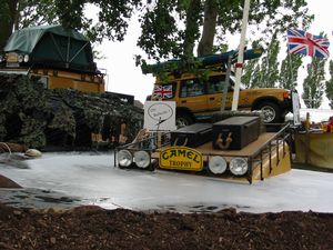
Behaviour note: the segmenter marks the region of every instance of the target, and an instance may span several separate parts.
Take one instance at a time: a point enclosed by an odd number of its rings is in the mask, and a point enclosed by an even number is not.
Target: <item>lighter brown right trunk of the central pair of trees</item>
[[[202,37],[198,46],[198,57],[212,53],[218,19],[216,0],[206,0],[204,6],[204,21]]]

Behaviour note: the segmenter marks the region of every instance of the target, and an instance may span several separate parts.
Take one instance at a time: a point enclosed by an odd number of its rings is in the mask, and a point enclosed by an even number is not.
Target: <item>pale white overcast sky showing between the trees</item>
[[[333,1],[331,0],[307,0],[309,8],[312,13],[315,14],[315,20],[307,32],[319,34],[324,31],[329,34],[331,43],[332,39],[332,9]],[[98,48],[104,53],[105,59],[99,60],[98,66],[104,68],[108,71],[108,90],[113,92],[121,92],[133,94],[137,100],[144,102],[145,97],[151,94],[154,79],[152,76],[144,76],[141,69],[134,64],[134,54],[142,53],[137,48],[137,39],[140,36],[140,26],[138,19],[133,19],[130,23],[129,33],[122,42],[105,41]],[[239,36],[231,38],[232,40],[239,40]],[[281,47],[284,44],[282,43]],[[286,46],[286,44],[285,44]],[[333,44],[331,44],[331,57],[333,54]],[[230,49],[235,49],[230,47]],[[304,64],[310,62],[310,57],[303,59]],[[301,69],[299,82],[305,77],[305,70]],[[302,91],[301,84],[299,84],[299,91]],[[325,101],[322,108],[327,108]]]

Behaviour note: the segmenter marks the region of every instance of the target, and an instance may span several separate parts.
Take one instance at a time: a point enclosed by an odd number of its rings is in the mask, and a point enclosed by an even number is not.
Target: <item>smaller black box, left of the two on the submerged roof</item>
[[[171,132],[172,146],[195,148],[212,140],[211,123],[194,123]]]

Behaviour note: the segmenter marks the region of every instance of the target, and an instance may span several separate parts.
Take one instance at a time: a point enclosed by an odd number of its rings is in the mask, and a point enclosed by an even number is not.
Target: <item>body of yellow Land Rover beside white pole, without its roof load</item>
[[[170,76],[168,82],[157,82],[151,100],[168,100],[176,102],[178,126],[191,124],[209,119],[222,106],[225,74],[211,72],[206,81],[193,74],[182,74],[181,78]],[[225,110],[230,110],[233,99],[234,77],[230,77]],[[292,100],[285,89],[246,89],[240,88],[240,110],[262,110],[264,122],[276,123],[284,121],[287,112],[292,111]]]

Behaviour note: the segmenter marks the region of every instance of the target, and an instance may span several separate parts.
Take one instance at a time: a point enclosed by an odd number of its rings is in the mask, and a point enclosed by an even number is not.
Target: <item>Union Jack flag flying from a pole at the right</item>
[[[287,30],[287,49],[291,53],[329,58],[330,42],[326,38],[313,36],[302,30]]]

